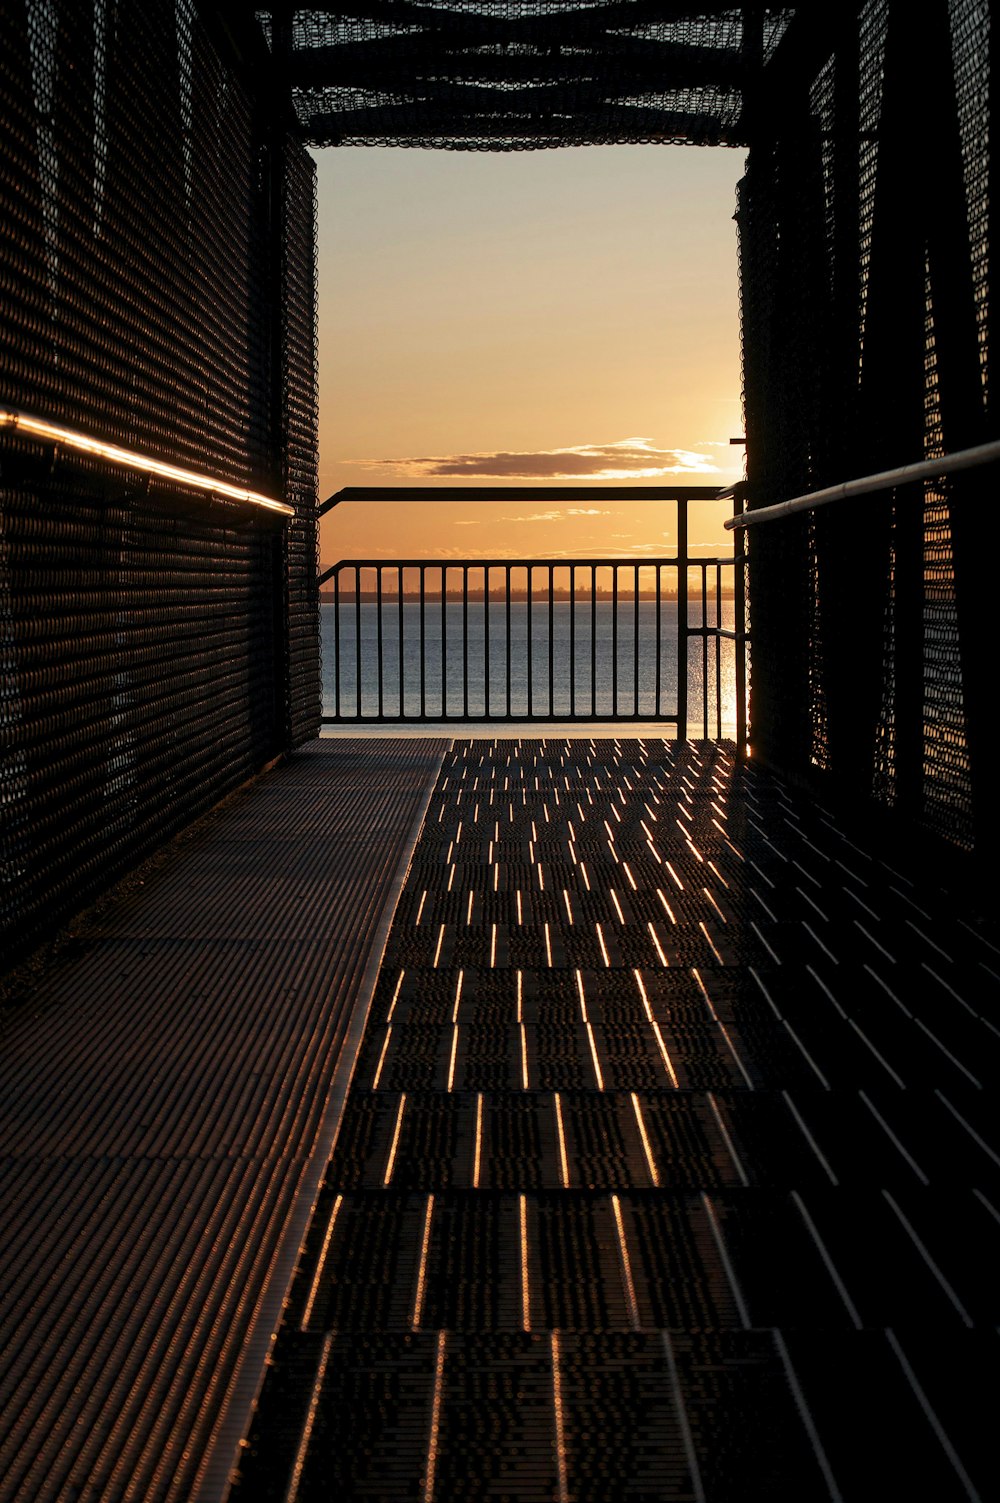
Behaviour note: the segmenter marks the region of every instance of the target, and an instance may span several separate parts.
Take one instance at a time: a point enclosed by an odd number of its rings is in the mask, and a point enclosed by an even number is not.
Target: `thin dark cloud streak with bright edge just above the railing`
[[[430,454],[344,463],[370,470],[388,470],[411,479],[657,479],[663,475],[719,473],[719,466],[707,454],[695,449],[660,449],[651,439],[644,437],[617,439],[614,443],[577,443],[534,452],[499,449],[484,454]],[[570,513],[570,516],[589,514]]]

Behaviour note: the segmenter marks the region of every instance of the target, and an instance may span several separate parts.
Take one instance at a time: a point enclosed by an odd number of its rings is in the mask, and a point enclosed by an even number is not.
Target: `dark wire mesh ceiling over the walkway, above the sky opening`
[[[743,144],[746,77],[791,14],[665,0],[364,0],[262,20],[286,54],[308,141],[520,150]]]

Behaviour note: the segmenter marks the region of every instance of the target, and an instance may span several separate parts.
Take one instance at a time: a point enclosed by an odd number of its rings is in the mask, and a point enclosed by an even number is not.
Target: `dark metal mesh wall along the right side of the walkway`
[[[997,433],[989,9],[868,0],[788,32],[738,212],[750,505]],[[994,476],[767,523],[747,544],[758,755],[962,849],[995,825],[976,544]]]

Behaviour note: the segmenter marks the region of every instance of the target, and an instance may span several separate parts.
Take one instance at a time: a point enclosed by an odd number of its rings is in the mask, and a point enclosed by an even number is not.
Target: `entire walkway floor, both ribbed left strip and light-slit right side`
[[[313,742],[12,1016],[5,1476],[986,1497],[992,945],[725,742]]]

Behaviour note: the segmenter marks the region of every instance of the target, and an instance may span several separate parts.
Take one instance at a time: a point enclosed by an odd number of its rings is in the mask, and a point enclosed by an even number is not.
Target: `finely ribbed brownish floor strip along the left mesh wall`
[[[308,747],[6,1019],[0,1498],[226,1492],[447,744]]]

